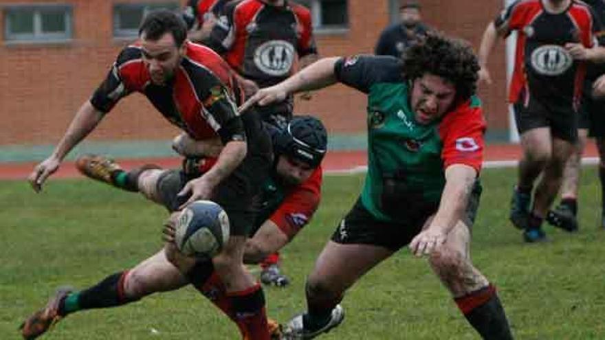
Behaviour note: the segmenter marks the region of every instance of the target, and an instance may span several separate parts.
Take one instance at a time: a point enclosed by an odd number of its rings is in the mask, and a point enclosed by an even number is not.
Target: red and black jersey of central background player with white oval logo
[[[311,12],[289,1],[283,6],[260,0],[228,3],[209,44],[261,88],[285,80],[296,71],[298,58],[317,53]]]

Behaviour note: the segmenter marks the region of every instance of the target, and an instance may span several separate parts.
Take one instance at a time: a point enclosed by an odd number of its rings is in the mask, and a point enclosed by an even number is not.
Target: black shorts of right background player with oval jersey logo
[[[525,95],[513,105],[515,122],[520,135],[534,128],[551,128],[553,137],[575,143],[577,141],[577,112],[571,104],[558,100],[541,100],[533,96],[525,102]]]

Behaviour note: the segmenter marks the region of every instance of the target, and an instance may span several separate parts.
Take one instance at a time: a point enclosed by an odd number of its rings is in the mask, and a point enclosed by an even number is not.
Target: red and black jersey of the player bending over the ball
[[[191,137],[201,140],[219,135],[226,143],[245,138],[237,105],[243,91],[232,69],[212,49],[186,42],[186,54],[168,84],[151,82],[141,47],[120,52],[91,104],[104,113],[133,92],[144,94],[155,108]]]

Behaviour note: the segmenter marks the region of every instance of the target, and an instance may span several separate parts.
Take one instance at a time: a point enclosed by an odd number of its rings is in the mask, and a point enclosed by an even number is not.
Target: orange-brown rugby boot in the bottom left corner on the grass
[[[36,311],[28,319],[25,319],[23,324],[19,326],[23,339],[36,339],[61,320],[63,316],[58,313],[59,304],[71,292],[72,288],[58,288],[55,295],[50,298],[44,308]]]

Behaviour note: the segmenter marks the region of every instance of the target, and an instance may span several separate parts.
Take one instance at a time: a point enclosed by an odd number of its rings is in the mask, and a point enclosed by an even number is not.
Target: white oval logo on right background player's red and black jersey
[[[573,58],[559,45],[544,45],[531,53],[531,67],[544,76],[559,76],[573,64]]]

